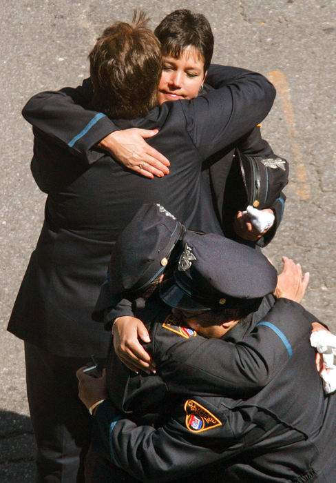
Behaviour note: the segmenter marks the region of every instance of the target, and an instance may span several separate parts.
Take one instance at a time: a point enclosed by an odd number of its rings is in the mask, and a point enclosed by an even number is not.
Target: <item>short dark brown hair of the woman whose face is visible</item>
[[[213,34],[207,17],[187,9],[169,13],[154,30],[161,42],[162,55],[176,59],[183,50],[193,47],[204,59],[204,72],[209,69],[213,54]]]

